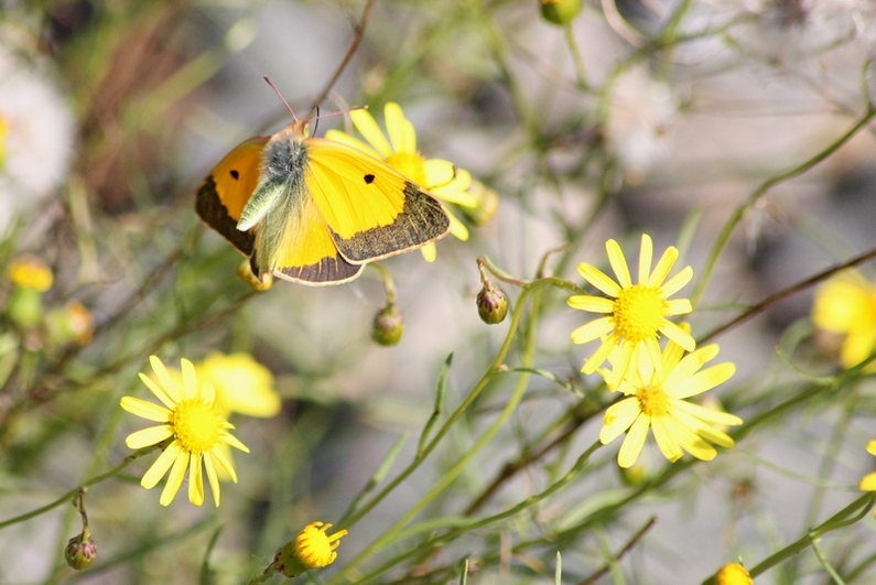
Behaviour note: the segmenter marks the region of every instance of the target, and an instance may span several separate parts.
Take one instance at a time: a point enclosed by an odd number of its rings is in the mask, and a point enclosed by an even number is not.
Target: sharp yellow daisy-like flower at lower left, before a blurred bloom
[[[173,441],[164,447],[164,452],[147,470],[140,485],[145,489],[152,489],[170,470],[159,500],[162,506],[167,506],[180,490],[187,468],[188,501],[201,506],[204,503],[203,464],[213,490],[213,500],[218,507],[217,465],[237,483],[234,466],[223,455],[220,446],[227,444],[245,453],[249,453],[249,449],[228,433],[234,425],[213,408],[216,392],[212,384],[198,381],[191,361],[181,360],[182,382],[174,379],[155,356],[150,357],[149,362],[155,372],[158,383],[142,372],[140,379],[165,408],[132,397],[122,397],[121,408],[131,414],[161,424],[131,433],[125,440],[125,444],[138,449],[156,445],[169,438]]]

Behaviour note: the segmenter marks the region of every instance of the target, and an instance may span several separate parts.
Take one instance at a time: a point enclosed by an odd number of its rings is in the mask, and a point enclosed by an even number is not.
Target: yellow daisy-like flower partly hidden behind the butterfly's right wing
[[[325,138],[343,142],[385,161],[388,165],[428,189],[432,195],[444,203],[458,205],[464,208],[475,209],[478,206],[485,209],[495,208],[498,198],[495,193],[480,183],[473,182],[472,175],[462,169],[456,169],[452,162],[441,159],[423,159],[417,150],[417,131],[413,124],[404,117],[401,107],[396,102],[387,102],[383,107],[387,134],[380,130],[374,117],[367,110],[353,110],[349,112],[356,130],[368,143],[349,136],[340,130],[328,130]],[[387,136],[389,140],[387,140]],[[493,194],[490,197],[489,194]],[[451,234],[459,239],[468,239],[468,228],[444,206],[451,220]],[[430,262],[435,260],[435,245],[428,243],[421,248],[423,258]]]

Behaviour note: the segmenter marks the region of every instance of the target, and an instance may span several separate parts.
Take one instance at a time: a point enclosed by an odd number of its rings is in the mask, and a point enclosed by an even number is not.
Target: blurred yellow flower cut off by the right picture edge
[[[876,345],[876,285],[854,270],[830,279],[815,291],[812,322],[820,329],[845,335],[840,364],[851,368],[873,353]],[[876,364],[867,366],[867,371]]]

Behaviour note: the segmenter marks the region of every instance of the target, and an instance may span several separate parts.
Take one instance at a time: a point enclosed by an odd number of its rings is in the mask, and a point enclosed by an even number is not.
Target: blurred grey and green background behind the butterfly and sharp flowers
[[[547,272],[582,284],[575,267],[606,267],[607,238],[635,261],[647,232],[658,254],[681,248],[677,270],[691,264],[699,285],[718,234],[740,213],[695,306],[701,336],[874,246],[872,2],[585,0],[570,14],[548,19],[536,0],[0,1],[0,263],[35,257],[54,275],[39,332],[2,322],[0,520],[130,453],[123,437],[142,421],[118,404],[149,398],[137,378],[149,355],[176,365],[247,353],[272,372],[282,399],[277,416],[231,419],[251,453],[236,454],[240,480],[224,484],[219,509],[182,496],[161,508],[158,491],[138,485],[151,459],[137,462],[86,495],[99,548],[91,568],[64,564],[61,551],[79,528],[62,506],[0,530],[0,583],[194,583],[205,556],[210,583],[245,583],[304,524],[335,521],[399,436],[411,438],[393,469],[413,457],[447,356],[452,410],[508,333],[508,322],[478,318],[478,256],[528,280],[547,252],[566,246]],[[415,251],[382,262],[404,315],[398,346],[370,339],[386,304],[377,271],[342,286],[277,282],[253,295],[236,275],[242,258],[194,213],[198,185],[231,148],[289,123],[266,75],[301,117],[326,90],[321,113],[368,106],[381,124],[383,105],[400,104],[425,158],[452,161],[498,196],[495,217],[469,223],[467,241],[440,241],[434,263]],[[329,128],[354,131],[348,116],[311,130]],[[823,161],[800,167],[819,153]],[[501,286],[513,306],[518,291]],[[3,306],[11,289],[0,291]],[[581,394],[534,377],[513,422],[419,520],[462,514],[508,461],[586,403],[580,397],[597,384],[578,370],[592,349],[570,342],[585,316],[566,296],[554,290],[542,300],[534,367]],[[804,290],[715,339],[720,359],[737,367],[717,392],[729,411],[747,420],[771,392],[802,383],[777,344],[793,339],[794,359],[813,376],[831,368],[836,347],[814,343],[811,299]],[[74,302],[88,315],[88,338],[53,338],[52,319],[69,319]],[[338,567],[442,477],[513,383],[490,383],[431,464],[350,529]],[[857,400],[859,414],[872,413],[866,392]],[[848,404],[825,399],[790,412],[598,530],[558,540],[627,488],[609,445],[594,473],[531,516],[473,531],[419,568],[428,575],[495,552],[501,563],[484,561],[472,582],[549,583],[559,550],[564,581],[584,583],[653,516],[617,570],[627,583],[699,583],[740,555],[754,564],[855,496],[873,425],[848,416]],[[598,424],[581,425],[485,509],[540,491],[597,435]],[[663,464],[647,455],[644,473]],[[862,522],[832,550],[846,560],[872,552],[874,527]],[[506,554],[530,539],[531,549]],[[826,583],[811,554],[797,562],[757,582]],[[418,582],[418,566],[378,581]]]

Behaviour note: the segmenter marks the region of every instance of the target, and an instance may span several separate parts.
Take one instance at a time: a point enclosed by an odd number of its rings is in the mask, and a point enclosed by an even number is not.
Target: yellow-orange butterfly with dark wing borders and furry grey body
[[[231,150],[195,198],[201,219],[249,257],[257,277],[340,284],[367,262],[447,234],[429,192],[365,152],[310,137],[312,120],[292,117]]]

